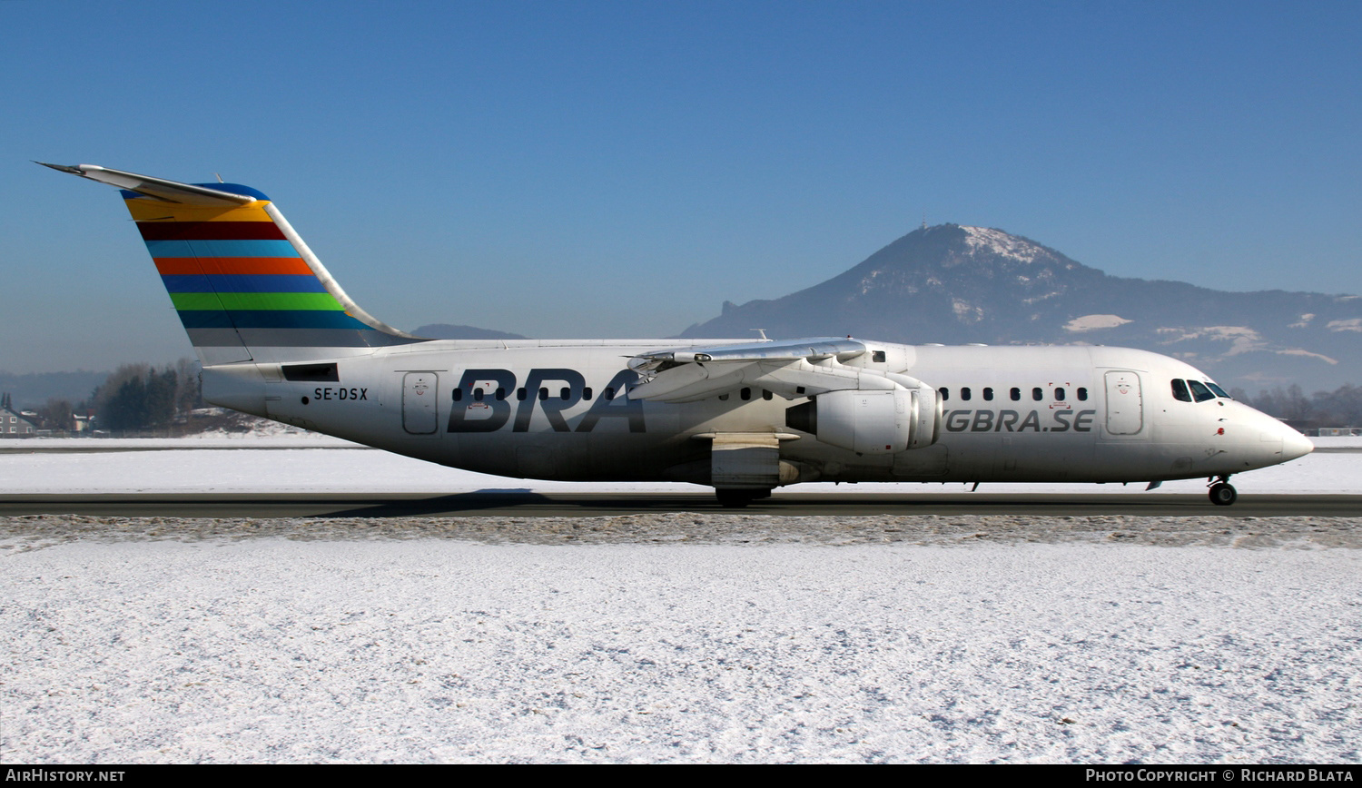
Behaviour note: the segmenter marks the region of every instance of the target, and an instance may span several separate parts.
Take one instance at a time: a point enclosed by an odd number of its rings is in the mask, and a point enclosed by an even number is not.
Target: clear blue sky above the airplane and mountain
[[[666,336],[929,223],[1362,293],[1362,4],[0,0],[0,369],[191,355],[97,163],[402,328]]]

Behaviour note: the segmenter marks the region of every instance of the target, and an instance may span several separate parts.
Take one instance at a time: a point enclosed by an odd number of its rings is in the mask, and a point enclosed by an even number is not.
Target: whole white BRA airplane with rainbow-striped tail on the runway
[[[206,401],[455,468],[692,482],[723,506],[799,482],[1205,478],[1227,506],[1233,474],[1314,448],[1144,350],[422,339],[361,309],[256,189],[44,166],[123,191]]]

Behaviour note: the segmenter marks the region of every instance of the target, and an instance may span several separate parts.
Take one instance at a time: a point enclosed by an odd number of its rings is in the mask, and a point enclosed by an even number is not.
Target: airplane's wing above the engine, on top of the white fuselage
[[[918,381],[906,376],[844,365],[866,352],[865,343],[851,338],[643,352],[629,359],[629,367],[644,377],[644,382],[629,392],[629,399],[688,403],[756,387],[793,400],[843,389],[889,391],[917,385]]]

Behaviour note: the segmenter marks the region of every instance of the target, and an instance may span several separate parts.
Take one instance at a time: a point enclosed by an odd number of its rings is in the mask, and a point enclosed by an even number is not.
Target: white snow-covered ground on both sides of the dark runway
[[[1357,493],[1359,461],[1317,452],[1235,482]],[[323,448],[0,455],[10,491],[545,485]],[[1087,519],[1103,540],[970,539],[1000,519],[957,517],[960,538],[925,546],[831,546],[828,519],[742,543],[761,519],[727,517],[740,529],[701,544],[684,543],[700,514],[610,544],[469,536],[516,519],[452,538],[11,519],[0,759],[1362,759],[1355,547],[1156,547],[1117,517]],[[53,539],[65,523],[83,535]],[[1308,525],[1355,546],[1362,521]]]

